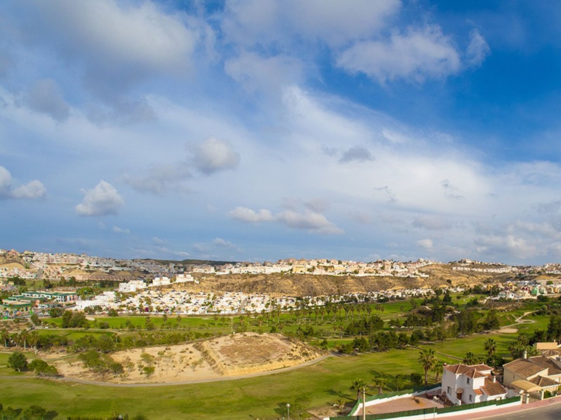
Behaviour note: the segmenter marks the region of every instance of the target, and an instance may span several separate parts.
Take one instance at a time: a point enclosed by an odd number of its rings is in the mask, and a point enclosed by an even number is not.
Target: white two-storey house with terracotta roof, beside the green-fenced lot
[[[492,371],[487,365],[444,366],[442,391],[456,405],[504,399],[507,390],[496,381]]]

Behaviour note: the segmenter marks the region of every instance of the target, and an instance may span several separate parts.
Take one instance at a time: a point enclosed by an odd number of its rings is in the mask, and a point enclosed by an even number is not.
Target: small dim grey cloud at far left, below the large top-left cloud
[[[27,105],[35,111],[50,115],[58,122],[70,114],[70,108],[63,99],[60,89],[52,79],[38,80],[27,91]]]

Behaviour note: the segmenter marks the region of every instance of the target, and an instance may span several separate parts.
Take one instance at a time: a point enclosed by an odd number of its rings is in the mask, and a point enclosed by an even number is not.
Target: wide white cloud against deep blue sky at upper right
[[[394,31],[387,40],[360,41],[339,55],[337,66],[380,83],[397,79],[423,82],[457,73],[461,59],[439,25],[426,25],[410,27],[404,33]]]

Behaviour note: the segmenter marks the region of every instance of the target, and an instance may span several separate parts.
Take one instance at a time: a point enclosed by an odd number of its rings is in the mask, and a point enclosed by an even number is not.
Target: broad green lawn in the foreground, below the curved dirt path
[[[275,409],[293,403],[299,395],[308,396],[311,407],[333,404],[338,398],[352,403],[355,394],[349,387],[354,379],[371,381],[377,373],[422,373],[418,354],[419,351],[407,349],[332,357],[291,372],[182,386],[113,388],[38,379],[0,379],[0,403],[4,407],[39,403],[48,410],[56,410],[56,418],[107,417],[111,404],[115,404],[122,413],[131,417],[143,414],[148,420],[273,419],[282,415],[282,411]]]

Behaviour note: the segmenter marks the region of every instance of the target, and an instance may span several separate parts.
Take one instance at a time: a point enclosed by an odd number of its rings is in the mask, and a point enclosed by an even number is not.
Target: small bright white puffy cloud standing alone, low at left
[[[99,181],[93,189],[81,190],[84,199],[75,207],[80,216],[108,216],[117,214],[119,207],[125,205],[125,200],[113,185],[106,181]]]

